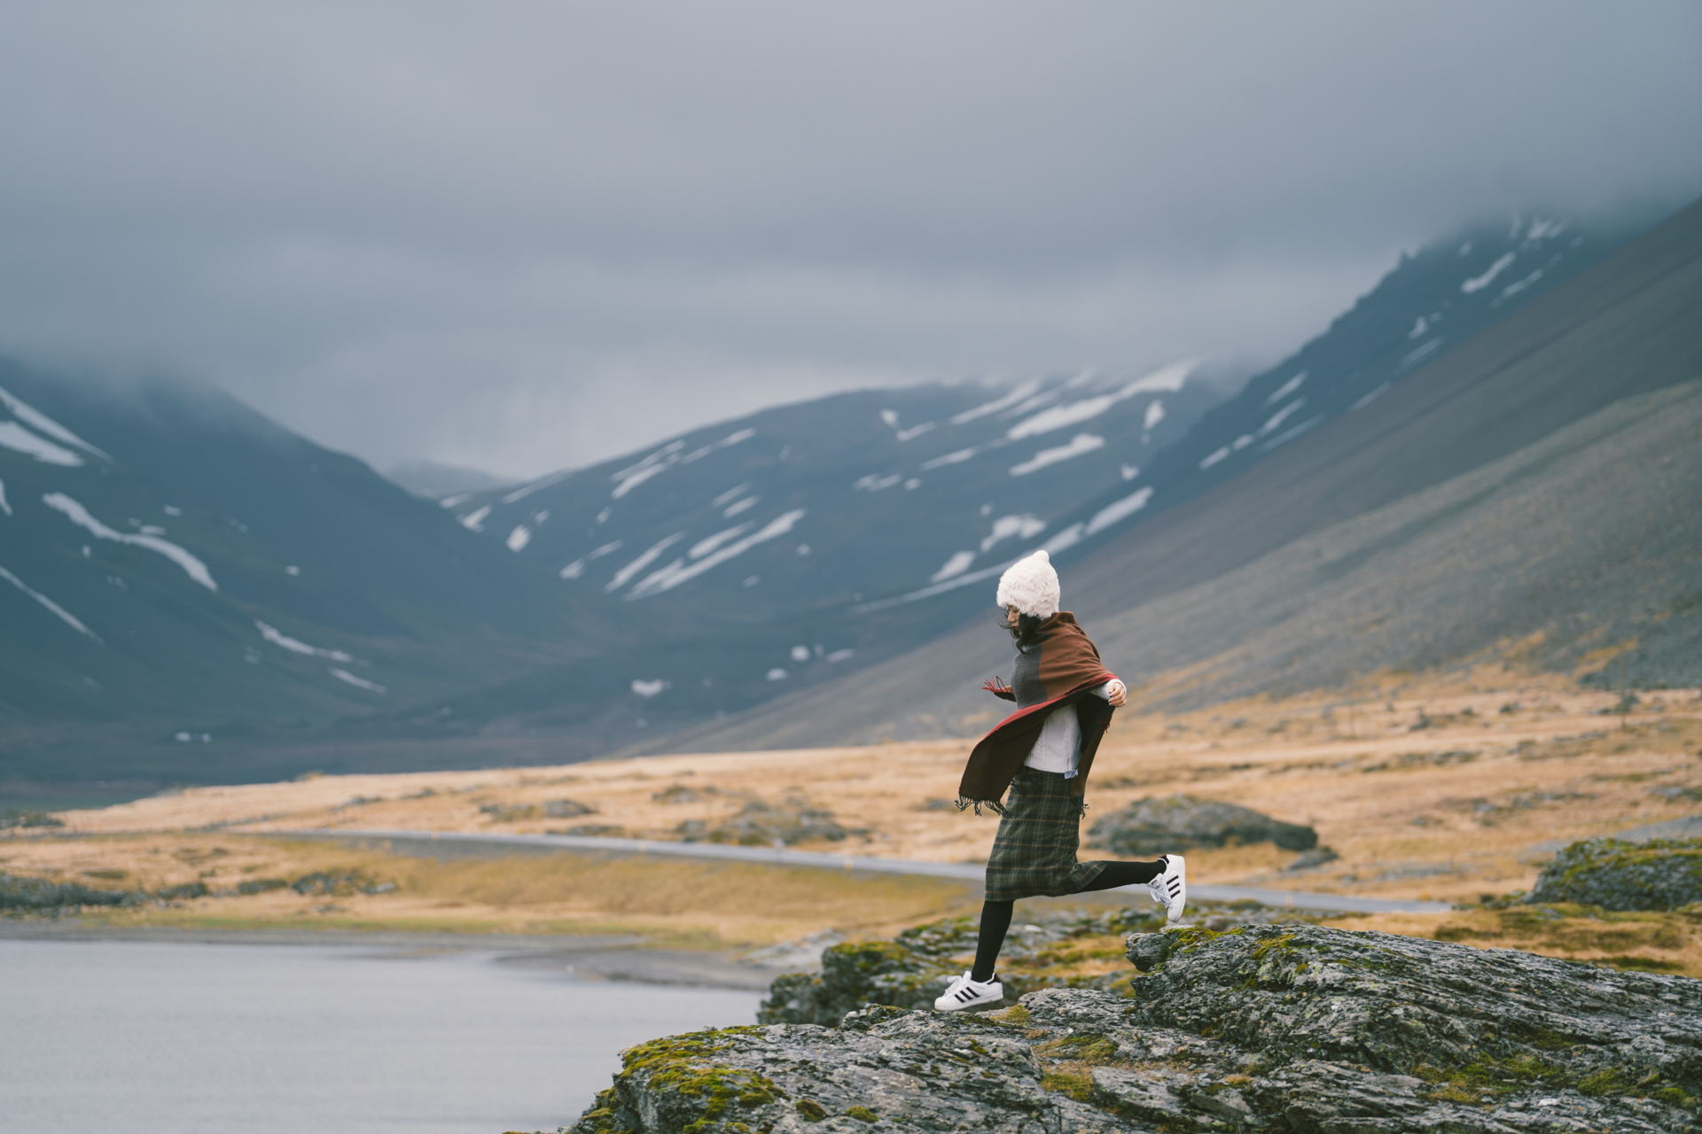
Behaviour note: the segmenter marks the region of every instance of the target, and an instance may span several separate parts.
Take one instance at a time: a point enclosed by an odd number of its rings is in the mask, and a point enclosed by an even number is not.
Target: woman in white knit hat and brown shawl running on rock
[[[1011,685],[994,678],[985,689],[1014,700],[1016,712],[975,745],[958,785],[958,809],[974,804],[979,814],[982,806],[992,808],[1001,816],[999,835],[987,855],[975,967],[934,1001],[941,1012],[1004,1000],[994,966],[1018,898],[1060,898],[1145,882],[1171,921],[1188,901],[1188,867],[1181,855],[1161,855],[1157,862],[1077,862],[1088,772],[1111,711],[1128,700],[1128,690],[1101,665],[1076,615],[1059,610],[1059,576],[1045,551],[1018,559],[999,578],[999,605],[1001,626],[1016,639],[1016,672]]]

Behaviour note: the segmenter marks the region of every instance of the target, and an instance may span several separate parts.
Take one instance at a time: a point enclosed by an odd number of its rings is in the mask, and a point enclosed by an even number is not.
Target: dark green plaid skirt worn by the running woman
[[[1077,862],[1081,808],[1062,772],[1023,768],[1004,797],[987,855],[987,901],[1062,898],[1099,877],[1103,862]]]

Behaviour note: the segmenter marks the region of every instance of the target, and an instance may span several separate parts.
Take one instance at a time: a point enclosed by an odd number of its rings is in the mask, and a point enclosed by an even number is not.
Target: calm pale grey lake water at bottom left
[[[621,1047],[751,1023],[757,1001],[490,955],[0,940],[0,1127],[555,1131]]]

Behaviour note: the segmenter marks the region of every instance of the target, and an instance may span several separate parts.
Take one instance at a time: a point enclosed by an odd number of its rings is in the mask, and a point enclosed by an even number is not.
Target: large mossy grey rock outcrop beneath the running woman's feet
[[[1142,933],[1120,991],[640,1044],[574,1134],[1702,1131],[1702,983],[1263,925]]]

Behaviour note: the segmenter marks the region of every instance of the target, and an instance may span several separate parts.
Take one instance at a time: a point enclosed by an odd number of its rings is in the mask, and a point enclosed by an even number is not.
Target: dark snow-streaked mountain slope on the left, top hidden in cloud
[[[0,779],[218,767],[582,638],[553,578],[220,393],[19,364],[0,391]]]

